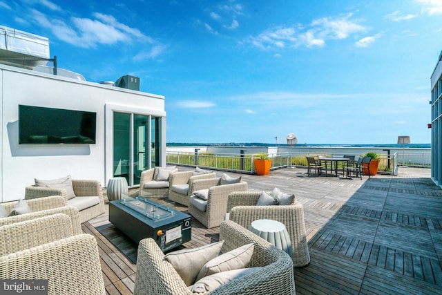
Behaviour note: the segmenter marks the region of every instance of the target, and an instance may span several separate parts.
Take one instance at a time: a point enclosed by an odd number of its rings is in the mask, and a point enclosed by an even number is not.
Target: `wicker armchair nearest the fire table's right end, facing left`
[[[218,185],[210,187],[207,195],[206,211],[201,211],[191,201],[189,203],[189,214],[208,229],[220,226],[224,216],[226,216],[227,198],[232,191],[247,191],[247,182],[223,185],[218,183]],[[191,196],[191,198],[198,200],[198,197],[195,196]]]

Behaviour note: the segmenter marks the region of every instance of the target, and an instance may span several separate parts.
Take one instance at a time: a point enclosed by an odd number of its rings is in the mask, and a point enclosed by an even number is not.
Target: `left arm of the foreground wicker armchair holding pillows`
[[[134,294],[192,294],[152,238],[138,245]]]

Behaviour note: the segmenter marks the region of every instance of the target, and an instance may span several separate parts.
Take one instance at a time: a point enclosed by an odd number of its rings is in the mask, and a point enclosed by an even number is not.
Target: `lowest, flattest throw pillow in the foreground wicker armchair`
[[[253,274],[258,272],[262,267],[250,267],[242,269],[233,269],[228,272],[218,272],[218,274],[212,274],[211,276],[204,276],[201,280],[198,280],[195,285],[189,287],[193,293],[206,293],[213,289],[220,287],[231,280],[240,278],[247,274]]]

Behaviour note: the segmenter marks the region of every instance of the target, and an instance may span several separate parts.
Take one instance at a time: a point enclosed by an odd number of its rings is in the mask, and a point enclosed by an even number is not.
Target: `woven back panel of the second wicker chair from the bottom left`
[[[56,213],[0,227],[0,256],[73,236],[70,217]]]

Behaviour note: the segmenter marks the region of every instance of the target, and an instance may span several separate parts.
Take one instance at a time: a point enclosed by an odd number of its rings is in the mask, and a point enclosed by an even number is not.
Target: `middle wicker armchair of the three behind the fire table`
[[[200,175],[193,175],[193,171],[173,173],[169,180],[171,184],[171,188],[169,189],[169,200],[173,200],[184,206],[189,206],[189,198],[192,196],[193,191],[209,189],[210,186],[215,185],[212,184],[213,182],[218,183],[218,179],[215,180],[215,178],[215,172]],[[206,179],[210,179],[212,182],[200,182],[200,184],[195,184],[197,180]]]

